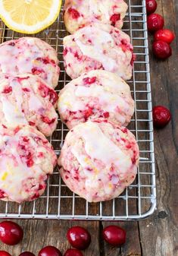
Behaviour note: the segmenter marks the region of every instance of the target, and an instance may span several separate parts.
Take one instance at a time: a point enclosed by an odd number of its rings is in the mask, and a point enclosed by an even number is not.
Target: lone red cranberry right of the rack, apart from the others
[[[155,127],[164,128],[170,122],[171,114],[169,109],[164,106],[155,106],[153,108],[153,124]]]

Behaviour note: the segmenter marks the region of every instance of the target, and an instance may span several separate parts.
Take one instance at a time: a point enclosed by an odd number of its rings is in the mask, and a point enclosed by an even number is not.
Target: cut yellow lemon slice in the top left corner
[[[19,33],[38,33],[53,24],[62,0],[0,0],[0,17]]]

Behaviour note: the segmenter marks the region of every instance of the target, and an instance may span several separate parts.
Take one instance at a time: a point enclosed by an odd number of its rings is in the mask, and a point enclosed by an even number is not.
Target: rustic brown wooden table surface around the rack
[[[178,255],[178,2],[158,0],[159,14],[165,27],[174,30],[173,56],[161,62],[150,53],[151,85],[154,105],[164,105],[172,112],[172,122],[162,130],[155,130],[155,159],[158,207],[147,220],[115,223],[126,229],[127,241],[122,248],[113,248],[101,240],[101,230],[110,223],[72,222],[55,220],[19,220],[24,238],[20,245],[9,247],[0,243],[0,249],[14,256],[20,251],[37,255],[45,245],[55,245],[63,253],[69,248],[65,238],[73,225],[84,226],[92,234],[92,243],[85,256],[177,256]],[[152,36],[149,36],[151,52]]]

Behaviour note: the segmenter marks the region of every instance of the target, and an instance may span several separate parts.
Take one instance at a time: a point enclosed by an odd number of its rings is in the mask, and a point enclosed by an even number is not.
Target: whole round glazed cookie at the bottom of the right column
[[[100,120],[70,130],[58,160],[64,183],[89,202],[116,198],[136,178],[138,164],[134,135]]]

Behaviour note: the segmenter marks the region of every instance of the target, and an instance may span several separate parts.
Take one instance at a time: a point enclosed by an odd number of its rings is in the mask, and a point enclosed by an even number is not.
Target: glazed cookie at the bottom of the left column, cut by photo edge
[[[57,159],[43,134],[29,125],[0,125],[0,199],[32,201],[46,188]]]

